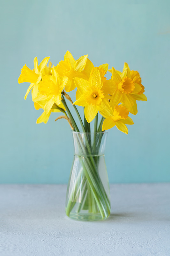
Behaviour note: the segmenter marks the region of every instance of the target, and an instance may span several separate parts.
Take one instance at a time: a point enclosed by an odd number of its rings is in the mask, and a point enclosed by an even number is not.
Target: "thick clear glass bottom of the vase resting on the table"
[[[107,217],[102,218],[100,213],[94,214],[94,213],[71,213],[70,212],[70,215],[69,215],[69,218],[73,220],[80,220],[80,221],[105,220],[107,219]]]

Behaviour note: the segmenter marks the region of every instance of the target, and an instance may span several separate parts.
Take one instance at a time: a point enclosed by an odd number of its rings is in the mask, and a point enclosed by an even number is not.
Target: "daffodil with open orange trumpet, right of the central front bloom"
[[[120,75],[115,68],[112,68],[111,79],[104,85],[105,92],[112,95],[110,101],[114,106],[123,102],[127,108],[130,108],[136,102],[132,95],[141,91],[141,86],[131,79],[129,68],[125,68]]]

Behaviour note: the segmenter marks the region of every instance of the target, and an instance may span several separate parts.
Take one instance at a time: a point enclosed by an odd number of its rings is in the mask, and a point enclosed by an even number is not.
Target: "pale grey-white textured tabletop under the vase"
[[[66,185],[0,185],[1,256],[170,256],[170,184],[111,185],[111,216],[65,215]]]

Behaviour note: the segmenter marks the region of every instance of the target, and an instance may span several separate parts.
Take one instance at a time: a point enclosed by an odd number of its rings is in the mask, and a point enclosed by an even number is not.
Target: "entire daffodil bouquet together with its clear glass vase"
[[[52,66],[51,62],[47,66],[49,57],[38,64],[36,57],[33,70],[26,64],[21,69],[18,83],[31,83],[25,99],[32,90],[35,109],[43,109],[37,124],[46,124],[51,112],[62,112],[63,115],[55,120],[65,118],[73,131],[75,159],[67,191],[66,214],[74,219],[99,220],[110,214],[109,189],[103,183],[100,170],[106,169],[101,160],[105,131],[116,126],[128,134],[126,124],[133,124],[129,113],[136,115],[137,100],[147,98],[138,71],[130,70],[127,63],[121,72],[114,67],[108,69],[108,64],[94,67],[87,57],[75,60],[67,51],[57,66]],[[107,71],[111,72],[108,80]],[[73,102],[66,92],[74,89],[76,100]],[[76,106],[84,107],[83,118]],[[82,132],[71,113],[72,108],[78,115]]]

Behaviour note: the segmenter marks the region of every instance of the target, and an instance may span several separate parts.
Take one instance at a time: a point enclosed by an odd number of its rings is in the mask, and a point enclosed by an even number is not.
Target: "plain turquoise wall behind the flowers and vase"
[[[119,4],[118,4],[119,3]],[[26,63],[46,56],[54,65],[69,50],[89,54],[94,66],[138,70],[147,102],[126,135],[108,133],[110,182],[170,181],[169,62],[170,1],[4,1],[1,4],[1,183],[67,183],[73,159],[65,120],[36,124],[29,84],[18,84]],[[109,78],[109,76],[107,76]],[[71,96],[73,93],[71,93]],[[71,107],[71,106],[70,106]],[[74,110],[72,110],[74,113]]]

